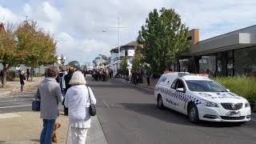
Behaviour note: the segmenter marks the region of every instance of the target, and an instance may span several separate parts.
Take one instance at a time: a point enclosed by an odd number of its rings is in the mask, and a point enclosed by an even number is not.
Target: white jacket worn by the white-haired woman
[[[90,89],[90,100],[94,105],[96,98]],[[79,128],[90,128],[90,100],[87,86],[75,85],[66,91],[64,105],[68,108],[70,126]]]

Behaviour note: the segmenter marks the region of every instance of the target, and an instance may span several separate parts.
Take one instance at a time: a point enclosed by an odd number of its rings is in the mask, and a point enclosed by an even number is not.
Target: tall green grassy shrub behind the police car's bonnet
[[[246,98],[250,102],[251,110],[256,111],[256,78],[222,77],[214,79],[226,89],[230,89],[231,92]]]

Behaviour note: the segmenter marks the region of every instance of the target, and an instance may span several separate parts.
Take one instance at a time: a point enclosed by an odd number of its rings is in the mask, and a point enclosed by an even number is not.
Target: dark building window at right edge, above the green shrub
[[[234,50],[234,74],[256,76],[256,46]]]

